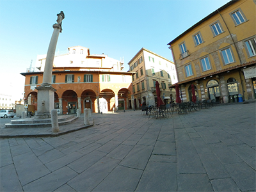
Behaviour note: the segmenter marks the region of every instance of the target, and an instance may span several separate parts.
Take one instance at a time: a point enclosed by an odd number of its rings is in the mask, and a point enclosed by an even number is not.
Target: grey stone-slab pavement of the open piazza
[[[2,138],[0,191],[256,191],[255,116],[255,102],[168,119],[127,111],[57,137]]]

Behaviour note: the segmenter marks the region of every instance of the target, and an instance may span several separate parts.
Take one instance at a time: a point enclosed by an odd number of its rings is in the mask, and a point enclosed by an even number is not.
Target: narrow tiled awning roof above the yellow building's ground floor
[[[248,67],[250,65],[254,65],[256,64],[256,61],[250,61],[248,63],[243,63],[243,64],[240,64],[240,65],[235,65],[235,66],[232,66],[232,67],[228,67],[228,68],[225,68],[225,69],[222,69],[222,70],[218,70],[216,72],[212,72],[212,73],[209,73],[209,74],[205,74],[203,76],[198,76],[198,77],[194,77],[194,78],[191,78],[191,79],[188,79],[188,80],[185,80],[185,81],[180,81],[178,83],[175,83],[175,84],[172,84],[172,86],[170,86],[170,88],[175,88],[175,85],[176,84],[184,84],[184,83],[188,83],[188,82],[191,82],[191,81],[196,81],[198,79],[202,79],[204,77],[209,77],[209,76],[214,76],[214,75],[218,75],[218,74],[221,74],[223,72],[228,72],[230,70],[236,70],[237,68],[243,68],[243,67]]]

